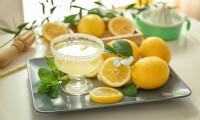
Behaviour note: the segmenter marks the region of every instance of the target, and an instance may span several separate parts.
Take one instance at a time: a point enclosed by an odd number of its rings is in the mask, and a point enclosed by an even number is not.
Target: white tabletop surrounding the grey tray
[[[0,120],[200,120],[200,22],[191,22],[189,32],[183,30],[178,40],[168,42],[172,52],[170,65],[191,88],[189,97],[77,112],[39,113],[33,108],[27,70],[23,69],[0,79]],[[45,51],[45,45],[37,42],[10,67],[24,63],[27,57],[43,56]]]

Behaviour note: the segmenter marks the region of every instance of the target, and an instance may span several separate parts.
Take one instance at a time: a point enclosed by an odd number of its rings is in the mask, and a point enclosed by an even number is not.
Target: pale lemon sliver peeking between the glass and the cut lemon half
[[[87,78],[96,77],[96,76],[98,75],[98,73],[99,73],[99,70],[101,69],[101,66],[102,66],[102,64],[103,64],[103,61],[104,61],[103,57],[100,57],[99,65],[97,66],[97,68],[96,68],[94,71],[92,71],[92,72],[86,74],[86,77],[87,77]]]

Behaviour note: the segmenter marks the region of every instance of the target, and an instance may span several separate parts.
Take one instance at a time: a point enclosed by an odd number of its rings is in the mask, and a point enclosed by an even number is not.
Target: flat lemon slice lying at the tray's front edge
[[[97,103],[116,103],[122,100],[123,94],[110,87],[98,87],[90,91],[90,99]]]

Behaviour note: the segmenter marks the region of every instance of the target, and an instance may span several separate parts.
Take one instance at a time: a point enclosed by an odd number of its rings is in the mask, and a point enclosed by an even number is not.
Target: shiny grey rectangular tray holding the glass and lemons
[[[88,94],[73,96],[66,94],[62,91],[60,92],[59,98],[49,99],[47,96],[37,93],[37,89],[40,83],[37,72],[40,67],[48,67],[44,63],[43,58],[35,58],[27,62],[33,104],[35,109],[39,112],[78,111],[127,104],[155,102],[169,100],[173,98],[186,97],[191,94],[190,88],[170,68],[171,70],[169,80],[163,87],[148,91],[139,89],[136,97],[124,97],[124,99],[119,103],[98,104],[90,101]],[[104,86],[104,84],[99,82],[97,79],[94,79],[93,83],[94,87]]]

